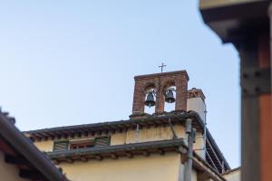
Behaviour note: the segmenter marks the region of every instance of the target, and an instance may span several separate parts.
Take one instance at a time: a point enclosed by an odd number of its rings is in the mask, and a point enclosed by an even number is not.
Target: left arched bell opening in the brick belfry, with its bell
[[[146,86],[144,99],[144,112],[148,114],[153,114],[155,112],[156,105],[156,89],[155,85],[150,84]]]

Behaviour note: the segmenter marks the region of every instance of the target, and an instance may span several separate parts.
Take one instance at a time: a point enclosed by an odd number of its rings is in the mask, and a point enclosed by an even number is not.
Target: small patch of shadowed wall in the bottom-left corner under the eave
[[[19,169],[13,164],[5,163],[5,155],[0,151],[0,180],[26,181],[19,176]]]

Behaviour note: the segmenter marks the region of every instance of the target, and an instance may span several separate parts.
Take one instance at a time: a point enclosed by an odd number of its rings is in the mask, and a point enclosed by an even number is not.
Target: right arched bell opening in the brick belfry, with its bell
[[[164,89],[164,111],[170,112],[176,110],[176,86],[170,86]]]

